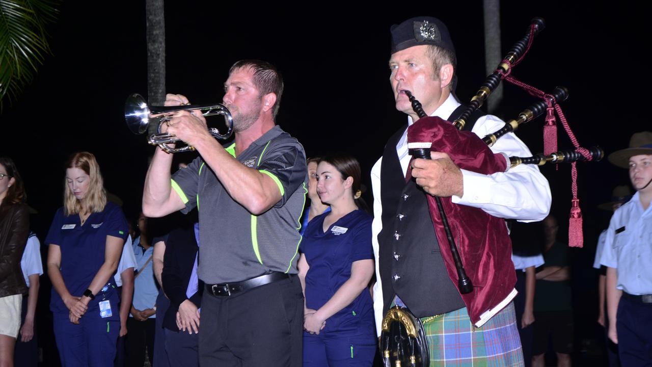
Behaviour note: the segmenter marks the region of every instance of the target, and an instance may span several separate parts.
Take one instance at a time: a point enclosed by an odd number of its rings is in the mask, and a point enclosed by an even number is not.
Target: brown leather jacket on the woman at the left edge
[[[20,259],[29,234],[25,204],[0,205],[0,297],[27,293]]]

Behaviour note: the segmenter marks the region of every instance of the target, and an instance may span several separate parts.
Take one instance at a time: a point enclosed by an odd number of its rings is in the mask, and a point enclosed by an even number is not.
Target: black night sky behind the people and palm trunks
[[[632,133],[650,130],[642,95],[650,82],[651,46],[644,42],[649,35],[649,9],[629,4],[501,3],[501,55],[524,35],[531,18],[546,19],[546,29],[512,75],[544,91],[566,86],[571,97],[561,106],[580,144],[599,145],[607,153],[626,148]],[[367,185],[368,172],[385,141],[406,121],[394,110],[388,82],[392,24],[432,15],[449,26],[458,56],[456,94],[462,102],[470,100],[486,76],[480,1],[401,3],[400,7],[334,2],[271,5],[166,2],[166,89],[188,96],[192,103],[221,102],[222,83],[233,62],[270,61],[285,81],[277,123],[302,142],[309,156],[344,151],[358,157]],[[411,10],[415,8],[419,10]],[[38,211],[32,217],[33,229],[41,240],[61,206],[63,165],[70,153],[95,153],[106,188],[123,199],[125,214],[134,220],[147,159],[155,149],[143,136],[132,135],[123,118],[126,96],[147,93],[144,2],[68,1],[61,5],[57,23],[48,29],[52,55],[46,57],[33,84],[18,101],[5,101],[0,114],[0,153],[16,161],[25,180],[28,202]],[[533,101],[524,91],[505,84],[505,101],[497,114],[515,118]],[[533,153],[542,151],[541,126],[539,118],[518,131]],[[572,147],[561,127],[558,136],[559,148]],[[570,166],[542,171],[553,190],[552,211],[562,225],[561,240],[566,240]],[[606,159],[579,163],[578,176],[585,245],[572,250],[573,285],[576,350],[585,357],[591,348],[582,340],[595,342],[601,335],[595,323],[597,271],[591,264],[597,236],[608,225],[609,214],[596,206],[610,199],[615,185],[629,179],[626,170]],[[365,198],[371,202],[370,190]],[[42,287],[41,295],[49,296],[49,285]],[[51,322],[44,302],[39,302],[41,324]],[[43,336],[41,342],[46,340],[48,336]]]

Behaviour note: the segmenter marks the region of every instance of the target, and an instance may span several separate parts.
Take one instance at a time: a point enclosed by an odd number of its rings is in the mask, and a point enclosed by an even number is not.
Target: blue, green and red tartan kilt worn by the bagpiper
[[[466,308],[423,317],[430,367],[524,366],[514,304],[475,328]]]

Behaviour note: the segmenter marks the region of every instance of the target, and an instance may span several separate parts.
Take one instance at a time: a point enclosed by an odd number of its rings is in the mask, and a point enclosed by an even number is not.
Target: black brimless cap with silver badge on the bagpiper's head
[[[432,16],[417,16],[390,28],[392,33],[391,54],[413,46],[431,44],[455,54],[451,34],[441,20]]]

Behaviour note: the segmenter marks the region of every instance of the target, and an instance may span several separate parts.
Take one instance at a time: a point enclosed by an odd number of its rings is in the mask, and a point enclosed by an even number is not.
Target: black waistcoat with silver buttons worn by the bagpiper
[[[449,121],[462,113],[455,110]],[[471,130],[473,114],[465,130]],[[383,314],[398,297],[417,317],[428,317],[464,308],[462,297],[449,278],[439,252],[426,193],[414,180],[406,179],[396,144],[407,125],[387,142],[380,173],[383,229],[378,234],[379,270],[383,289]]]

